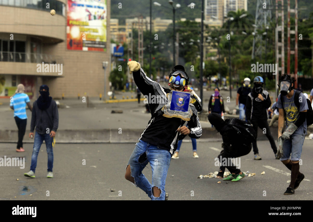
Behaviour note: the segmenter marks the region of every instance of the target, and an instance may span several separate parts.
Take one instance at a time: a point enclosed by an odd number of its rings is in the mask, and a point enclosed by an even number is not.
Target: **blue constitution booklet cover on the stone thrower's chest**
[[[189,101],[190,101],[189,92],[180,92],[172,90],[172,100],[170,110],[188,112]]]

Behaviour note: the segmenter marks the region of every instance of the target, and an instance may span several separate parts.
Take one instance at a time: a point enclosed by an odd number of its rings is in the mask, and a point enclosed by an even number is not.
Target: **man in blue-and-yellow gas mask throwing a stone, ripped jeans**
[[[151,119],[129,158],[125,178],[145,191],[152,200],[165,200],[168,197],[165,193],[165,179],[178,140],[186,135],[192,138],[202,135],[197,116],[201,105],[195,96],[183,92],[187,89],[189,77],[182,65],[174,66],[169,76],[170,89],[163,88],[147,77],[138,62],[130,61],[127,65],[139,90],[144,95],[159,99],[147,99]],[[151,165],[152,183],[142,174],[148,163]]]

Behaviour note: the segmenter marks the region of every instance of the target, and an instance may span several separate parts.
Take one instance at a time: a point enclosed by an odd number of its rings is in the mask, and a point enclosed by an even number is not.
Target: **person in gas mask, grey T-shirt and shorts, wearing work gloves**
[[[299,171],[299,160],[305,139],[306,126],[312,124],[312,109],[309,109],[306,97],[298,90],[293,89],[294,80],[284,74],[280,78],[280,95],[276,107],[279,108],[278,118],[278,152],[280,161],[291,171],[290,184],[285,195],[294,194],[304,179]],[[286,130],[284,121],[286,120]],[[290,160],[291,154],[291,160]]]

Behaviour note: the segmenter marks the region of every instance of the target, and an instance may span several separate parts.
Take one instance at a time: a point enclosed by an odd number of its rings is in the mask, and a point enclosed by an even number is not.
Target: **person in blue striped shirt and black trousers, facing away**
[[[27,115],[26,115],[26,104],[30,111],[32,106],[30,105],[29,97],[24,93],[25,87],[23,84],[18,84],[13,97],[10,100],[10,108],[14,110],[14,119],[18,126],[18,144],[16,152],[24,152],[23,148],[23,137],[26,130]]]

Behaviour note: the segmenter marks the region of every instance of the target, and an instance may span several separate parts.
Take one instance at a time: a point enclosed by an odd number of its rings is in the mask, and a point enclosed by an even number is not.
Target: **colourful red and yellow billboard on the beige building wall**
[[[106,0],[67,1],[67,49],[106,51]]]

